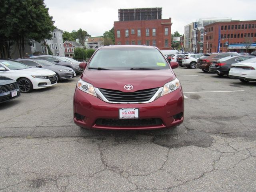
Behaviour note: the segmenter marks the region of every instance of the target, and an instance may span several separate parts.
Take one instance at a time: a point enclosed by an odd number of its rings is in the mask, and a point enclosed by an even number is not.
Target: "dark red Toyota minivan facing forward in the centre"
[[[147,130],[170,128],[184,120],[180,81],[153,46],[98,48],[74,93],[74,122],[83,128]]]

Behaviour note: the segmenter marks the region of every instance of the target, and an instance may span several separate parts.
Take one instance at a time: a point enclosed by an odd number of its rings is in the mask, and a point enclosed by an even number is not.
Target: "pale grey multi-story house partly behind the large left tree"
[[[64,57],[64,47],[63,47],[63,39],[62,34],[63,31],[56,28],[53,32],[50,32],[52,34],[51,40],[46,40],[46,44],[49,46],[51,52],[55,56],[62,56]],[[48,50],[44,47],[44,42],[32,42],[31,46],[31,52],[32,54],[48,54]]]

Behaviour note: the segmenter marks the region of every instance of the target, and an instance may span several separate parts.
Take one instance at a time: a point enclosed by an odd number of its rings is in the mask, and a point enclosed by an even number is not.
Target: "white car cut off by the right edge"
[[[256,58],[231,64],[228,76],[239,79],[241,82],[256,81]]]

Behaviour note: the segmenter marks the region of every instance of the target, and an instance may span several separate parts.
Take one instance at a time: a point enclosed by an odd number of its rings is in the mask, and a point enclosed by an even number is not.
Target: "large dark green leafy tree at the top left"
[[[0,1],[0,35],[16,42],[20,58],[24,58],[27,39],[38,42],[51,39],[54,28],[43,0]]]

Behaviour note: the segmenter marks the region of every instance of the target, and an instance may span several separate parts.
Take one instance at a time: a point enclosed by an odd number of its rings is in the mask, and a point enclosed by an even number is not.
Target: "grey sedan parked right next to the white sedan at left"
[[[16,61],[22,62],[23,64],[33,67],[33,68],[45,68],[52,70],[56,73],[56,76],[59,80],[64,80],[64,79],[71,79],[72,77],[76,76],[76,73],[74,70],[70,67],[65,67],[65,66],[59,66],[59,65],[54,65],[51,62],[48,62],[46,60],[41,60],[41,59],[17,59]]]

